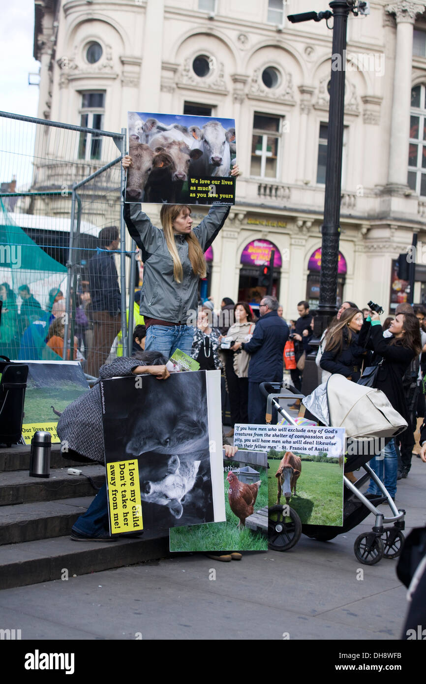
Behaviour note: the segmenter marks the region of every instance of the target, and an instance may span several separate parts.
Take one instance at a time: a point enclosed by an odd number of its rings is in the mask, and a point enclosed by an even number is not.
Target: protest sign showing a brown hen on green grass
[[[170,529],[170,551],[266,551],[268,474],[265,453],[224,458],[226,521]]]

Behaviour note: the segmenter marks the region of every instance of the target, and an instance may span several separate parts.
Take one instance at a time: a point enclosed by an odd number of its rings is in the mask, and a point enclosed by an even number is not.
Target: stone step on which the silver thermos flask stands
[[[92,478],[96,487],[105,482],[105,468],[100,464],[76,466]],[[94,496],[93,488],[85,475],[68,475],[66,468],[51,471],[50,477],[30,477],[25,471],[4,472],[0,478],[0,506],[51,501],[68,497]]]

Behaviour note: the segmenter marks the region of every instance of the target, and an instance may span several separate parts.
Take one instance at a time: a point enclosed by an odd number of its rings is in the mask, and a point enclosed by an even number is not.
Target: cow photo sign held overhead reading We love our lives
[[[234,205],[235,120],[129,111],[126,202]]]

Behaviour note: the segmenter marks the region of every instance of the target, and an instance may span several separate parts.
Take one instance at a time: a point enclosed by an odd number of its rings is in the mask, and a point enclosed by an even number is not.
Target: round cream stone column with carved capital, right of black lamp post
[[[408,146],[410,137],[411,71],[413,51],[413,25],[417,14],[426,5],[411,0],[397,0],[386,5],[388,14],[395,14],[397,44],[390,122],[390,153],[387,189],[404,192],[408,189]]]

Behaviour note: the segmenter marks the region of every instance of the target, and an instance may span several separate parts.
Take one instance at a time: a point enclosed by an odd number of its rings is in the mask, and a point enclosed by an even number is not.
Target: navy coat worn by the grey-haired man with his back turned
[[[284,345],[289,339],[289,326],[276,311],[261,316],[244,351],[251,355],[248,365],[249,382],[281,382]]]

